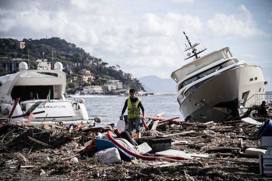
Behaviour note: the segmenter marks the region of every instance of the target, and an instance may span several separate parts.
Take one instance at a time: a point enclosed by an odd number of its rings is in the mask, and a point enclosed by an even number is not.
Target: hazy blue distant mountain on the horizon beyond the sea
[[[176,82],[171,78],[159,78],[156,75],[139,78],[144,90],[150,93],[175,93]]]

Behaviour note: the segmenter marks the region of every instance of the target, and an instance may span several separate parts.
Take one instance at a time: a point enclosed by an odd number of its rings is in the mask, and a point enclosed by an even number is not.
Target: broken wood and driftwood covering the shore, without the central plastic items
[[[158,119],[158,117],[151,119],[147,123],[151,131],[143,131],[142,138],[170,137],[172,138],[172,141],[169,141],[171,149],[166,150],[165,154],[179,154],[179,156],[184,156],[189,160],[165,161],[165,158],[158,158],[156,161],[121,160],[114,165],[101,164],[99,160],[93,157],[87,155],[80,157],[80,154],[77,153],[92,142],[94,135],[108,129],[101,129],[100,127],[73,130],[73,128],[47,124],[41,126],[4,125],[0,128],[0,142],[2,142],[0,151],[2,151],[3,160],[16,158],[17,164],[22,164],[21,169],[33,170],[31,166],[34,165],[35,171],[32,171],[34,174],[31,172],[33,180],[41,172],[40,170],[59,179],[70,178],[75,180],[79,179],[73,176],[74,173],[77,173],[77,175],[80,173],[86,178],[97,180],[128,180],[129,178],[135,180],[182,180],[184,174],[188,178],[190,176],[190,178],[195,177],[198,180],[236,178],[233,176],[239,177],[240,180],[246,180],[248,179],[246,174],[259,176],[258,169],[255,169],[255,165],[257,166],[259,163],[256,162],[255,158],[245,157],[244,155],[245,148],[261,148],[259,141],[255,138],[258,131],[256,124],[244,122],[227,124],[208,122],[205,124],[179,122],[175,121],[176,119],[169,122],[165,120],[166,118]],[[160,123],[160,121],[164,122]],[[169,123],[180,126],[170,127]],[[169,124],[168,128],[166,128],[167,124]],[[240,127],[251,133],[246,133],[243,129],[241,131]],[[205,133],[204,130],[213,132]],[[242,145],[241,139],[238,138],[243,139]],[[171,150],[172,152],[169,153]],[[15,154],[19,151],[22,156]],[[199,154],[209,157],[199,157]],[[62,158],[71,156],[78,157],[79,164],[62,161]],[[150,154],[147,153],[147,156],[150,156]],[[52,161],[45,163],[43,162],[44,157],[50,157]],[[24,161],[24,158],[27,158],[28,162]],[[9,167],[14,168],[15,171],[18,170],[18,165]],[[184,173],[184,170],[186,173]],[[220,174],[216,175],[215,173]]]

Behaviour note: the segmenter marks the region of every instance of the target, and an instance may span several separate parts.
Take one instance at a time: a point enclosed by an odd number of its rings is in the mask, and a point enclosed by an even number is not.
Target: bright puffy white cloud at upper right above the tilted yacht
[[[213,19],[207,22],[208,29],[213,35],[218,37],[267,35],[257,28],[256,23],[253,21],[252,14],[244,5],[240,5],[238,11],[238,14],[231,15],[223,13],[214,14]]]

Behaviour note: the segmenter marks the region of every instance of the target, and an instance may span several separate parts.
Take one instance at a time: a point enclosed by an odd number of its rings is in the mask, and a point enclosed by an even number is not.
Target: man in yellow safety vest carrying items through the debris
[[[130,137],[134,139],[133,136],[133,125],[135,123],[135,129],[137,138],[141,138],[141,129],[140,129],[140,118],[141,118],[141,111],[143,113],[142,120],[144,119],[144,106],[141,102],[141,99],[139,99],[136,96],[136,90],[130,89],[129,90],[129,98],[125,101],[124,108],[122,110],[122,114],[120,116],[120,119],[123,119],[123,114],[125,113],[127,107],[128,107],[128,133],[130,134]]]

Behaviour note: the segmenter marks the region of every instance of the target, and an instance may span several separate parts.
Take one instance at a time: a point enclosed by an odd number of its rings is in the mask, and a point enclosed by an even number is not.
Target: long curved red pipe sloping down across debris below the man
[[[123,151],[125,151],[126,153],[128,153],[128,154],[130,154],[130,155],[132,155],[132,156],[134,156],[136,158],[141,158],[143,160],[156,160],[156,158],[158,158],[158,157],[147,157],[147,156],[140,155],[140,154],[137,154],[137,153],[134,153],[134,152],[128,150],[122,144],[120,144],[118,141],[116,141],[114,138],[112,138],[112,132],[111,131],[108,131],[108,139],[110,141],[112,141],[114,144],[116,144]],[[171,158],[171,159],[175,159],[175,160],[185,160],[185,158],[183,158],[183,157],[164,157],[164,158]]]

